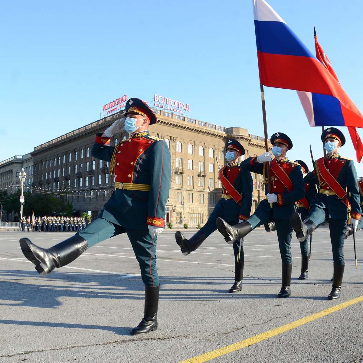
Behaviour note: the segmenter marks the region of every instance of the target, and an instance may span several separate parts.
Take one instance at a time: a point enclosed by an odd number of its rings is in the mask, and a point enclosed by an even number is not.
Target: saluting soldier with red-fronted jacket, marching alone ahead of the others
[[[49,249],[40,248],[28,238],[20,239],[25,257],[46,276],[56,267],[69,264],[94,244],[127,233],[139,262],[145,285],[144,318],[132,335],[158,328],[159,276],[156,270],[157,235],[163,231],[165,207],[170,189],[170,152],[167,143],[150,135],[149,124],[156,123],[153,111],[138,98],[126,103],[125,129],[131,137],[109,146],[123,120],[117,120],[103,134],[97,134],[91,155],[110,162],[115,174],[115,190],[101,213],[83,231]]]

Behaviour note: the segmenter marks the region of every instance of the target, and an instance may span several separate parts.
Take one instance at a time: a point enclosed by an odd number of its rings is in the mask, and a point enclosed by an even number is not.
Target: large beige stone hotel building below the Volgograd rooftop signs
[[[264,138],[248,134],[244,128],[224,128],[163,110],[153,111],[158,122],[150,126],[150,133],[166,140],[171,154],[166,224],[203,225],[221,196],[218,170],[225,165],[226,140],[237,139],[246,150],[242,158],[247,158],[264,152]],[[92,144],[95,134],[103,132],[122,114],[123,111],[111,114],[39,145],[25,159],[4,160],[0,164],[0,178],[4,176],[0,188],[11,181],[19,183],[16,174],[26,164],[25,191],[66,195],[78,215],[91,211],[95,218],[114,190],[114,178],[109,175],[107,162],[91,156]],[[114,135],[110,145],[128,137],[126,132]],[[264,198],[264,186],[262,176],[252,174],[252,178],[253,213]]]

